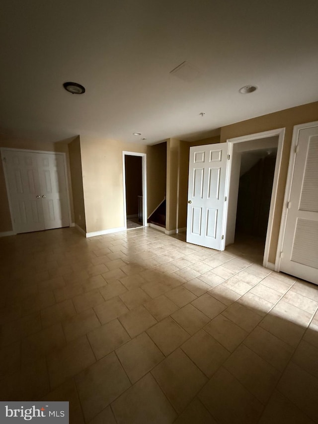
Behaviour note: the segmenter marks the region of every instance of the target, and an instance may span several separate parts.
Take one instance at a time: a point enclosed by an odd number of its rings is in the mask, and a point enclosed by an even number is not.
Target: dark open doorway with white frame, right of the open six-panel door
[[[263,137],[261,137],[263,135]],[[266,267],[277,195],[283,130],[257,134],[253,139],[228,140],[229,201],[226,224],[227,250],[243,252],[246,258]]]

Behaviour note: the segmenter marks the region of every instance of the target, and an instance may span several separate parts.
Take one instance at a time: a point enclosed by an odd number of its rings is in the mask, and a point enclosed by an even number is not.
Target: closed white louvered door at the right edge
[[[318,126],[299,131],[280,270],[318,284]]]

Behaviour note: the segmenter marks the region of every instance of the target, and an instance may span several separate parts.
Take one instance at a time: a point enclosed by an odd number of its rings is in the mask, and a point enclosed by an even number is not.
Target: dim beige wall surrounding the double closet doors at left
[[[69,179],[69,192],[71,204],[72,222],[74,220],[73,200],[72,200],[72,186],[71,174],[69,163],[68,142],[70,140],[63,140],[58,143],[40,142],[26,139],[0,139],[0,147],[12,149],[25,149],[25,150],[40,150],[44,152],[64,152],[66,153],[68,179]],[[5,188],[4,173],[2,161],[0,164],[0,233],[12,231],[11,216],[9,211],[9,203],[7,192]]]

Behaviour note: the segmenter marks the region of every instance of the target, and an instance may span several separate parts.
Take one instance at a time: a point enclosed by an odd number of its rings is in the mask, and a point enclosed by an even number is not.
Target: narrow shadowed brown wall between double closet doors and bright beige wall
[[[73,189],[74,222],[83,231],[86,231],[79,137],[69,143],[68,147],[70,157],[71,181]]]

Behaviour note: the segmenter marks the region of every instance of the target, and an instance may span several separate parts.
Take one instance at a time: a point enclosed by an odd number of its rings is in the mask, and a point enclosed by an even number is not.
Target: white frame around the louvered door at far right
[[[294,126],[292,145],[290,148],[290,157],[289,157],[289,166],[288,166],[288,173],[287,173],[287,180],[286,180],[285,195],[284,195],[284,206],[283,206],[282,219],[280,223],[279,237],[278,237],[278,244],[277,244],[275,271],[279,271],[280,269],[281,255],[283,251],[285,229],[286,229],[286,222],[287,222],[287,211],[288,211],[289,199],[290,199],[290,194],[292,190],[292,182],[293,182],[293,176],[294,176],[294,170],[295,170],[295,161],[296,161],[299,132],[300,130],[317,127],[317,126],[318,126],[318,121],[308,122],[306,124],[299,124]]]

